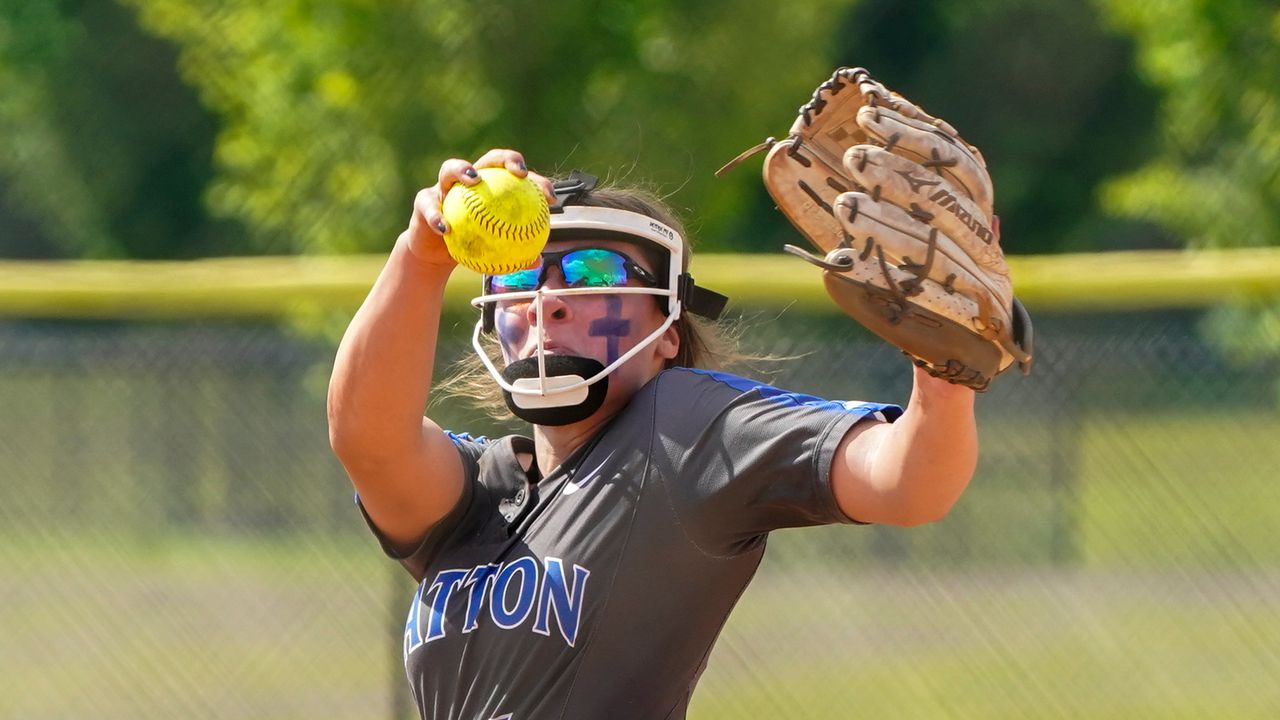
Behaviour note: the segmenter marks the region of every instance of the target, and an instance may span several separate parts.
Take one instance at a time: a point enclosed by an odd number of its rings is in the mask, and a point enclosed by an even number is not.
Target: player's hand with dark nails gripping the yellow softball
[[[448,269],[457,265],[444,246],[444,234],[449,232],[449,227],[444,222],[440,205],[454,183],[471,186],[480,182],[476,168],[507,168],[517,177],[529,177],[543,190],[548,202],[556,202],[552,181],[530,172],[525,165],[525,156],[515,150],[494,149],[475,163],[461,158],[445,160],[440,164],[436,183],[417,191],[413,197],[413,214],[410,217],[408,229],[404,231],[410,252],[422,263]]]

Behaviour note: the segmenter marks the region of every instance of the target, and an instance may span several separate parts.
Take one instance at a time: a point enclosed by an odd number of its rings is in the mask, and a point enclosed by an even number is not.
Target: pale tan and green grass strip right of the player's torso
[[[1280,573],[767,570],[691,717],[1261,720],[1280,710]]]

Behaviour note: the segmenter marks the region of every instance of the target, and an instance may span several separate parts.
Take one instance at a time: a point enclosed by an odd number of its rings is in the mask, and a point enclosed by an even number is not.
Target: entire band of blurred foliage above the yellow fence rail
[[[983,149],[1011,252],[1271,243],[1277,27],[1244,0],[0,0],[0,255],[381,251],[492,146],[774,251],[758,164],[712,172],[840,64]]]

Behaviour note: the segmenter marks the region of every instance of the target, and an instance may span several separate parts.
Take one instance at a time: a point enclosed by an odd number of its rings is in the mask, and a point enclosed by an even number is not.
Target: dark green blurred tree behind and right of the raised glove
[[[1100,206],[1108,176],[1155,152],[1157,94],[1133,41],[1088,0],[867,0],[838,59],[951,122],[982,149],[1014,254],[1151,247],[1171,240]]]

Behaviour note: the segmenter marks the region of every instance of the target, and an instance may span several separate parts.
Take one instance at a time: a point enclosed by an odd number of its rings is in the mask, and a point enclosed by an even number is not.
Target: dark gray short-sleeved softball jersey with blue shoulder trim
[[[524,437],[454,442],[458,506],[407,556],[422,717],[678,719],[769,530],[851,521],[831,464],[890,405],[659,374],[550,475]]]

